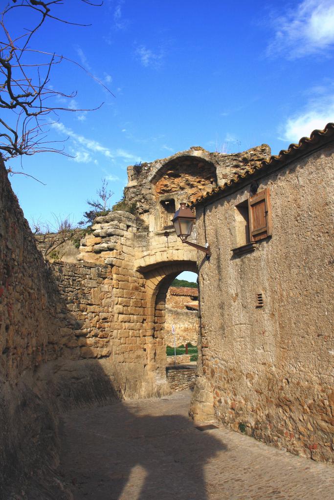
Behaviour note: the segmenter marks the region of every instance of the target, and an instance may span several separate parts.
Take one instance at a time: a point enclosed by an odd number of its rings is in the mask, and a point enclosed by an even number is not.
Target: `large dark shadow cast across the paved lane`
[[[224,445],[186,407],[172,395],[69,412],[61,471],[75,500],[206,500],[203,468]]]

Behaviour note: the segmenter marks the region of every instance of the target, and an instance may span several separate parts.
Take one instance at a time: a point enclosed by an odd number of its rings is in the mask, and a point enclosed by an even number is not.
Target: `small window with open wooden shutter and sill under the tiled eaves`
[[[235,254],[251,251],[257,241],[271,236],[270,193],[266,187],[235,205]]]

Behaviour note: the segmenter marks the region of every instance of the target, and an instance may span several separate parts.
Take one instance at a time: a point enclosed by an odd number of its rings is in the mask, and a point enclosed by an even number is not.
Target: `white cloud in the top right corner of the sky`
[[[334,0],[303,0],[273,21],[275,36],[268,55],[283,53],[289,59],[319,55],[334,44]]]

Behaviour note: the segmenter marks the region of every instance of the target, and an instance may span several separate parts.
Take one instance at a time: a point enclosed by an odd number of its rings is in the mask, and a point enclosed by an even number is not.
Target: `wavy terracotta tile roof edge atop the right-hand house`
[[[242,173],[234,175],[233,178],[225,182],[223,185],[214,187],[211,191],[207,192],[206,194],[203,194],[202,196],[199,196],[194,200],[193,205],[196,203],[200,203],[205,199],[214,196],[216,193],[224,191],[233,184],[240,182],[242,179],[249,177],[250,175],[253,175],[254,173],[256,173],[256,170],[266,168],[275,163],[276,164],[284,163],[284,161],[286,160],[297,158],[307,150],[312,149],[312,147],[309,147],[309,145],[314,147],[317,145],[317,141],[319,139],[321,139],[322,137],[327,138],[330,136],[333,136],[334,138],[334,123],[331,122],[327,123],[323,130],[313,130],[309,137],[301,137],[298,144],[290,144],[287,149],[282,149],[281,151],[279,151],[278,154],[272,155],[268,160],[263,160],[261,163],[258,163],[254,168],[249,168],[248,170],[245,170]]]

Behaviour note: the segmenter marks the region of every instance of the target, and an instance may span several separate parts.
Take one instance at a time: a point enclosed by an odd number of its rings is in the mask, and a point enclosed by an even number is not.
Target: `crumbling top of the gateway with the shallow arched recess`
[[[136,205],[139,230],[163,231],[166,224],[171,226],[172,218],[165,213],[166,200],[174,200],[177,209],[181,201],[191,202],[199,194],[222,185],[236,173],[269,157],[267,144],[234,154],[209,152],[203,147],[192,146],[168,158],[130,165],[125,199]]]

